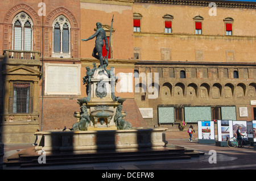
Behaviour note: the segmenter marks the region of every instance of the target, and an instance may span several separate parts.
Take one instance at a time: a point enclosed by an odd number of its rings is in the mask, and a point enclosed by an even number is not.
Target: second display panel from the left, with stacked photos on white
[[[232,120],[218,120],[218,141],[228,141],[233,138],[233,124]]]

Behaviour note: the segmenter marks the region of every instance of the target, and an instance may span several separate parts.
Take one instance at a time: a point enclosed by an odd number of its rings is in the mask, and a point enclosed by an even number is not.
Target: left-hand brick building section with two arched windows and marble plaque
[[[100,63],[92,57],[94,40],[81,41],[96,31],[96,22],[110,37],[114,15],[109,67],[117,75],[133,73],[133,1],[13,0],[1,5],[2,142],[34,142],[36,129],[72,128],[73,113],[80,111],[77,99],[86,96],[85,67]],[[133,90],[116,96],[126,98],[126,119],[143,126]]]

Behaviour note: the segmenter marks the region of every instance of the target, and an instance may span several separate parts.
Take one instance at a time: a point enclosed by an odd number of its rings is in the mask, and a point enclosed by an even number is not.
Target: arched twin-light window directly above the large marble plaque
[[[71,57],[70,23],[68,19],[60,15],[52,25],[52,57]]]

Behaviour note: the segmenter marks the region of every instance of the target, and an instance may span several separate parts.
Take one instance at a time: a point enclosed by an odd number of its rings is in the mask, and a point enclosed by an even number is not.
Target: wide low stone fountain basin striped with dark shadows
[[[102,150],[129,151],[163,149],[167,128],[133,128],[104,131],[42,131],[38,134],[36,151],[47,153],[96,153]]]

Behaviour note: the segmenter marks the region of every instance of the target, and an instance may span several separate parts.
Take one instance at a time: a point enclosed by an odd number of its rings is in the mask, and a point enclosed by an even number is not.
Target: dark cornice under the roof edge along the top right
[[[232,8],[246,8],[256,9],[255,2],[241,2],[241,1],[216,1],[216,0],[134,0],[134,2],[141,3],[158,3],[158,4],[170,4],[170,5],[192,5],[192,6],[209,6],[210,2],[216,3],[217,7],[232,7]]]

